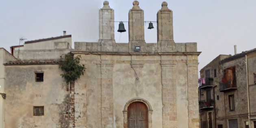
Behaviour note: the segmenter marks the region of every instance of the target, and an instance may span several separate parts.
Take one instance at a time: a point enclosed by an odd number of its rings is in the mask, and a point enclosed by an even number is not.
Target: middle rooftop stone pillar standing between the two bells
[[[135,46],[141,47],[141,52],[146,52],[144,36],[144,11],[135,0],[129,11],[129,52],[134,52]]]

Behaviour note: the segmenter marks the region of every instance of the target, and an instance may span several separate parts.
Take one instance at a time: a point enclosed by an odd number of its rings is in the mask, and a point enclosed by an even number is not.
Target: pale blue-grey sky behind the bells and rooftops
[[[1,0],[0,47],[9,50],[28,40],[56,37],[66,30],[72,41],[98,41],[98,10],[104,0]],[[219,54],[256,48],[256,0],[166,0],[174,12],[174,41],[197,42],[199,69]],[[128,21],[133,0],[109,0],[115,21]],[[156,21],[163,0],[139,0],[145,21]],[[128,24],[124,23],[128,31]],[[155,29],[145,24],[145,40],[156,43]],[[128,43],[128,32],[115,41]]]

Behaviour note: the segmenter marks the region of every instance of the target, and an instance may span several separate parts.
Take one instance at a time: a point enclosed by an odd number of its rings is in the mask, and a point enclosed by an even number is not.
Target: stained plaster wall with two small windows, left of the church
[[[35,82],[35,72],[44,81]],[[5,66],[5,128],[64,128],[68,89],[58,65]],[[44,116],[33,116],[33,106],[44,106]]]

